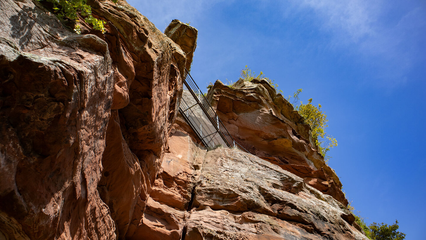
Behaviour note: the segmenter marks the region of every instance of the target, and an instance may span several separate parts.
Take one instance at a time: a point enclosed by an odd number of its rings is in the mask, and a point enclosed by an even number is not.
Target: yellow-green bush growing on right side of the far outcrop
[[[330,156],[327,155],[327,152],[331,148],[337,146],[337,140],[325,132],[325,128],[328,127],[328,119],[327,115],[322,111],[321,108],[321,104],[318,104],[318,106],[313,105],[311,98],[308,100],[307,104],[300,102],[300,105],[296,109],[299,111],[300,116],[305,118],[305,123],[308,123],[309,126],[311,126],[311,132],[315,139],[315,144],[318,146],[321,155],[324,156],[325,160],[327,161],[330,159]]]

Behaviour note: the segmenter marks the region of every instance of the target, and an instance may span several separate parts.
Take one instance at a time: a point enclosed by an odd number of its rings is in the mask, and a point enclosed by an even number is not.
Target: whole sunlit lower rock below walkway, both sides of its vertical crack
[[[178,131],[169,146],[130,239],[367,239],[343,204],[275,164],[237,149],[206,153]]]

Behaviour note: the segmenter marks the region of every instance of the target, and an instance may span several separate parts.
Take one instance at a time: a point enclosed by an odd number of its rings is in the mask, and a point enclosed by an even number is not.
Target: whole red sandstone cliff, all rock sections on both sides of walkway
[[[210,99],[252,154],[207,152],[177,117],[197,30],[88,3],[105,33],[0,1],[0,239],[365,239],[270,86],[216,82]]]

